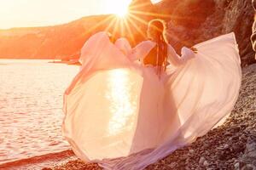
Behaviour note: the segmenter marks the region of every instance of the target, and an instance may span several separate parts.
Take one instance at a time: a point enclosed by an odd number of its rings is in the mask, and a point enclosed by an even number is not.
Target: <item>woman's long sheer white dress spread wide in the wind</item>
[[[143,169],[204,135],[233,109],[241,85],[234,33],[195,45],[168,45],[166,72],[140,62],[151,41],[131,48],[99,32],[81,50],[81,69],[64,94],[62,133],[83,161]],[[116,159],[118,158],[118,159]]]

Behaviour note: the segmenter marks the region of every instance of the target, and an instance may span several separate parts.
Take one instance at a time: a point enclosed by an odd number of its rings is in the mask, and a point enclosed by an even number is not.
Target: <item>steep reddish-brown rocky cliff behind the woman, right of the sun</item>
[[[164,0],[158,11],[170,14],[170,41],[189,45],[234,31],[239,44],[241,63],[255,63],[250,43],[253,25],[251,0]],[[180,48],[177,44],[177,48]]]

